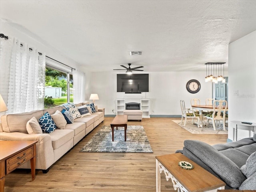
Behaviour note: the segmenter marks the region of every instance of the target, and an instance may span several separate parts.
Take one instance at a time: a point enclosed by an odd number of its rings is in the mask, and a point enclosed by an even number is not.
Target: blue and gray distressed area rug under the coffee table
[[[114,141],[112,141],[112,129],[103,126],[96,135],[80,150],[80,152],[146,152],[153,150],[143,126],[128,125],[126,141],[124,141],[124,127],[114,128]]]

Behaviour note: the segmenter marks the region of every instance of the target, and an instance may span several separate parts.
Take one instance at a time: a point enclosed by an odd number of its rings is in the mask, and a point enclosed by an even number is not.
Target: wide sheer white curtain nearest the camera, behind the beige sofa
[[[12,37],[1,38],[0,52],[0,93],[7,102],[6,113],[44,109],[45,54]]]

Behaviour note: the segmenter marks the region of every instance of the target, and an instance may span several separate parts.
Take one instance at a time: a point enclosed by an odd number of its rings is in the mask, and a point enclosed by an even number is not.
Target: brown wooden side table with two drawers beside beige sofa
[[[36,143],[37,141],[0,141],[0,192],[4,192],[4,176],[28,160],[31,164],[32,180],[35,179]]]

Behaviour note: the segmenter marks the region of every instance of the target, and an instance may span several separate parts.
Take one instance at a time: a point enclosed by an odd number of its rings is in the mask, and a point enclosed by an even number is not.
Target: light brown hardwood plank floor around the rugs
[[[90,153],[79,152],[102,125],[110,125],[106,117],[89,135],[58,160],[47,174],[36,170],[31,180],[28,170],[15,170],[6,176],[5,192],[155,192],[155,156],[182,149],[184,140],[200,140],[208,144],[226,143],[228,135],[191,134],[172,120],[150,118],[128,125],[142,125],[153,153]],[[161,174],[162,192],[174,192],[172,182]]]

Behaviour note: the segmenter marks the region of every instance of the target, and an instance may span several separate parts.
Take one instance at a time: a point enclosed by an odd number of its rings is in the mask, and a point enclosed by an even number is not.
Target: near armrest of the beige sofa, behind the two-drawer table
[[[25,134],[20,132],[0,132],[0,140],[6,141],[38,141],[36,143],[36,169],[46,170],[54,163],[52,139],[46,133]]]

